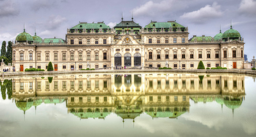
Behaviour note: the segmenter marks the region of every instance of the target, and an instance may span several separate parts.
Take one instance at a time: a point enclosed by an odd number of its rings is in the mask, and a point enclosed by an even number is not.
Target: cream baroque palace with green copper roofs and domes
[[[20,33],[13,44],[13,67],[46,69],[51,61],[54,70],[85,68],[205,67],[243,68],[244,42],[238,31],[230,29],[214,37],[193,35],[176,21],[153,22],[144,28],[132,20],[113,28],[104,22],[79,22],[67,29],[64,39],[42,39]]]

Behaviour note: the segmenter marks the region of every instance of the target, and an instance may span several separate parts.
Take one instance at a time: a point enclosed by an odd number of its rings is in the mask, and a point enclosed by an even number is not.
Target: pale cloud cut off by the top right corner
[[[256,1],[242,0],[239,7],[239,12],[244,14],[256,15]]]

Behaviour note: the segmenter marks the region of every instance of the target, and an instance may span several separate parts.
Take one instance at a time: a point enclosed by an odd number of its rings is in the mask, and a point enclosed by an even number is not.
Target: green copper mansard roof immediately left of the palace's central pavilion
[[[70,28],[70,30],[72,29],[91,29],[91,28],[94,28],[94,29],[99,29],[99,28],[102,28],[102,29],[110,29],[109,26],[107,26],[105,23],[79,23],[77,24],[76,26]]]

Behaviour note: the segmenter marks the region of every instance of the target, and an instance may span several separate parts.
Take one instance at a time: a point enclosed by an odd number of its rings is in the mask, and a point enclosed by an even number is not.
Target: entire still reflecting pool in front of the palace
[[[0,137],[256,136],[251,76],[76,74],[1,81]]]

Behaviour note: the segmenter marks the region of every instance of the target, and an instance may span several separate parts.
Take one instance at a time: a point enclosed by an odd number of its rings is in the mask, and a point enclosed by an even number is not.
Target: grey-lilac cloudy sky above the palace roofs
[[[219,27],[239,31],[245,42],[245,54],[252,59],[256,31],[256,0],[0,0],[0,43],[15,41],[25,29],[42,38],[65,39],[67,28],[81,22],[101,22],[111,28],[131,20],[145,26],[150,21],[176,22],[193,35],[214,36]]]

